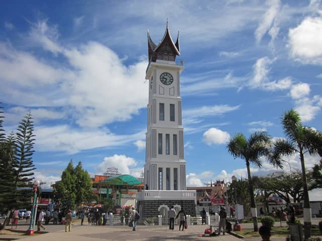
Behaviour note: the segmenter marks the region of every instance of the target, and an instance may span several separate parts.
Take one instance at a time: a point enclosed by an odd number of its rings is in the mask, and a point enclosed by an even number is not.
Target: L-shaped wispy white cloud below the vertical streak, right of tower
[[[286,77],[281,80],[270,81],[268,74],[270,72],[269,66],[275,61],[268,57],[260,58],[254,64],[254,76],[249,82],[250,88],[262,88],[265,90],[275,91],[280,89],[288,89],[292,85],[292,79]]]

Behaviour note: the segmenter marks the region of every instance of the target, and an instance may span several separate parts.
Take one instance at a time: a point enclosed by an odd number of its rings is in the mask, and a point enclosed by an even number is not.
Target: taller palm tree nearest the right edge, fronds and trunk
[[[311,236],[311,208],[308,198],[307,178],[305,172],[304,154],[315,155],[321,153],[322,133],[303,126],[299,114],[291,109],[282,116],[282,126],[287,139],[277,139],[271,159],[282,161],[284,155],[298,154],[302,168],[302,185],[304,199],[304,236]]]

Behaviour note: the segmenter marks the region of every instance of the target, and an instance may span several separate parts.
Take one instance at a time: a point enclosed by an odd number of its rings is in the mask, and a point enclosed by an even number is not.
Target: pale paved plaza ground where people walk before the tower
[[[312,223],[317,224],[322,218],[312,218]],[[302,220],[301,220],[302,221]],[[259,224],[260,225],[260,224]],[[279,223],[275,223],[275,226],[279,226]],[[286,222],[282,222],[282,226],[286,226]],[[7,228],[10,228],[7,226]],[[237,238],[235,236],[226,234],[220,236],[205,236],[199,237],[199,234],[203,234],[205,228],[208,225],[189,225],[185,231],[179,231],[179,226],[175,226],[175,230],[169,230],[168,226],[137,226],[136,231],[132,231],[128,226],[96,226],[80,225],[79,220],[74,220],[71,232],[64,231],[64,225],[45,225],[45,233],[35,234],[33,236],[27,235],[0,235],[0,240],[11,240],[8,238],[19,240],[42,240],[42,241],[60,241],[60,240],[77,240],[77,241],[90,241],[90,240],[216,240],[216,241],[256,241],[261,240],[260,237],[253,238]],[[253,228],[253,223],[242,223],[243,229]],[[15,229],[15,227],[14,227]],[[27,230],[28,225],[24,221],[20,220],[17,230]],[[271,238],[272,241],[282,241],[285,238]]]

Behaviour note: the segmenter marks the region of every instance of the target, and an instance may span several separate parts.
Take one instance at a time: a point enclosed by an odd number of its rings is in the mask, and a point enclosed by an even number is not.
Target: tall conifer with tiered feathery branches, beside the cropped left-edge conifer
[[[16,194],[16,207],[25,206],[30,202],[32,192],[26,193],[24,190],[28,182],[33,179],[35,165],[32,161],[34,153],[34,126],[31,113],[29,112],[19,123],[16,133],[16,152],[14,158],[15,180],[13,189]],[[26,195],[27,194],[27,195]]]

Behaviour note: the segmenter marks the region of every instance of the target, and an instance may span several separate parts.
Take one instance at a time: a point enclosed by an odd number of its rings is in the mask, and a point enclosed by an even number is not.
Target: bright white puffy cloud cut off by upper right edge
[[[322,63],[322,17],[307,17],[289,29],[291,56],[303,63]]]

